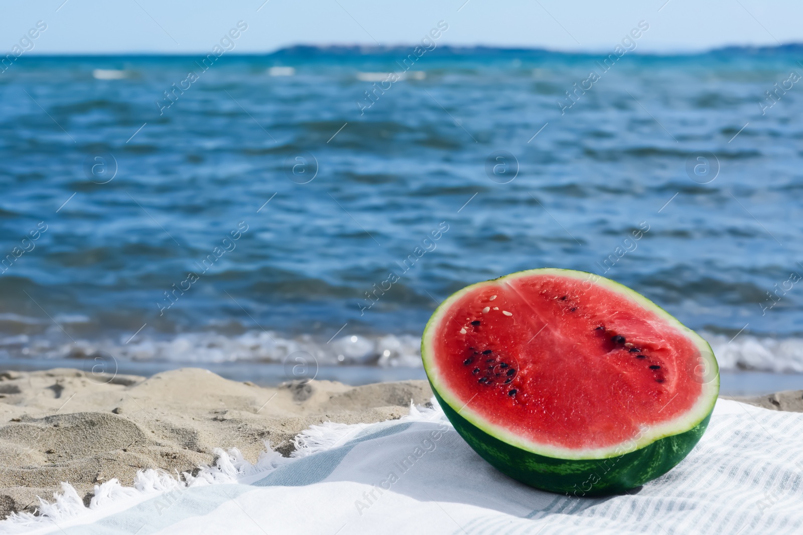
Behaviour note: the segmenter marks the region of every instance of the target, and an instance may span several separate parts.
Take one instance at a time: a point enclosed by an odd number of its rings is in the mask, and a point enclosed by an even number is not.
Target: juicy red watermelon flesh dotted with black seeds
[[[582,451],[692,411],[700,350],[679,323],[624,286],[537,271],[463,290],[431,326],[430,368],[457,403],[521,439]]]

